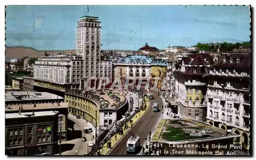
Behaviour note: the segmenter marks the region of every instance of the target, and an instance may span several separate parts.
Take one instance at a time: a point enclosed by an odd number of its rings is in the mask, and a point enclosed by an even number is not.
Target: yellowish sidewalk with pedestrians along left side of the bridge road
[[[146,106],[147,106],[147,108],[146,108],[145,111],[140,111],[140,112],[138,112],[138,113],[132,118],[133,124],[135,124],[135,123],[139,120],[139,118],[142,117],[142,115],[147,111],[148,106],[149,106],[148,98],[146,98]],[[118,143],[118,141],[126,134],[126,132],[127,132],[129,129],[131,129],[131,124],[130,124],[130,122],[128,122],[127,124],[128,124],[128,128],[127,128],[127,129],[124,129],[124,126],[123,126],[123,135],[118,135],[118,134],[116,134],[117,139],[115,139],[115,136],[113,136],[113,137],[111,138],[110,142],[111,142],[111,147],[112,147],[112,148],[113,148],[113,147]],[[107,155],[110,150],[111,150],[111,148],[108,148],[108,147],[107,147],[107,143],[105,143],[105,144],[103,145],[102,149],[100,150],[100,154],[101,154],[101,155]]]

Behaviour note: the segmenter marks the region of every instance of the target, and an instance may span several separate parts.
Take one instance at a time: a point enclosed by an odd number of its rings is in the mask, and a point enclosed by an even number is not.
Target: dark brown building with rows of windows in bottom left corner
[[[5,147],[10,155],[54,154],[58,142],[58,111],[5,114]]]

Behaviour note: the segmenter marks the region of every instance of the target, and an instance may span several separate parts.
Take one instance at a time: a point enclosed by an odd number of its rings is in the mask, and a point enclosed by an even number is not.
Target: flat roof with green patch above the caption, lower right
[[[202,134],[201,137],[190,136],[191,133],[199,134],[201,131],[209,133],[205,135]],[[161,120],[152,137],[152,141],[183,144],[240,137],[234,133],[228,133],[225,136],[225,132],[225,130],[193,119]]]

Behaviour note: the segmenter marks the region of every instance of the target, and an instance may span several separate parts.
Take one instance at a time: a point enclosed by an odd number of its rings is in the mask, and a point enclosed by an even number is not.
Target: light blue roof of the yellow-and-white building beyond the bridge
[[[169,62],[163,59],[154,59],[146,55],[129,55],[118,59],[119,64],[141,64],[168,66]]]

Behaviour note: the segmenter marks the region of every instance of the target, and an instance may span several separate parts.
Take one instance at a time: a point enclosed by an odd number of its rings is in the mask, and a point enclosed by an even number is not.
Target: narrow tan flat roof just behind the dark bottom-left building
[[[59,105],[58,103],[37,103],[36,106],[34,106],[34,104],[6,105],[5,112],[18,111],[20,107],[22,107],[23,110],[61,109],[68,108],[68,103],[60,102]]]

